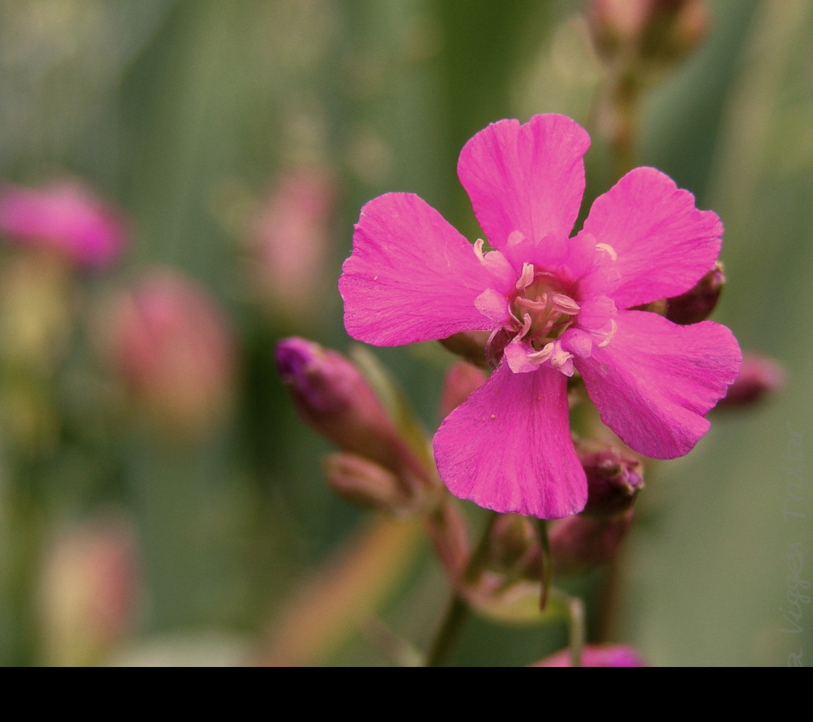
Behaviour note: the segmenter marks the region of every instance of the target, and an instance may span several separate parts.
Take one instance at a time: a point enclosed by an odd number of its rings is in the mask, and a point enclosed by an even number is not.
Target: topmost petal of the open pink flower
[[[585,190],[584,128],[563,115],[528,123],[501,120],[472,137],[460,152],[458,176],[494,248],[520,231],[537,242],[550,232],[568,236]]]

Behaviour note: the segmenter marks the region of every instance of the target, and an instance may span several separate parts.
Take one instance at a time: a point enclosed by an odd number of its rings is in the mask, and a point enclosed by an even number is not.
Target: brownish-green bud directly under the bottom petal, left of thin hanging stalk
[[[500,514],[489,536],[486,566],[509,577],[541,578],[541,549],[533,521],[519,514]]]

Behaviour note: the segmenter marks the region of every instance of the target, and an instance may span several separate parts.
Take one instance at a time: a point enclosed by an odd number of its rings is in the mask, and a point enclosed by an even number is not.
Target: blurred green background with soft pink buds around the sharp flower
[[[273,348],[351,348],[337,278],[370,198],[416,192],[480,236],[455,164],[493,120],[572,116],[593,137],[585,209],[606,190],[584,6],[0,2],[0,176],[80,179],[128,227],[93,270],[0,249],[2,664],[391,664],[387,629],[428,644],[437,562],[420,541],[389,539],[397,562],[347,551],[368,517],[324,486],[328,443],[293,412]],[[785,388],[713,413],[689,456],[650,468],[612,638],[654,665],[806,665],[813,5],[708,8],[705,41],[644,97],[637,164],[720,214],[713,318],[780,359]],[[375,353],[431,432],[453,357]],[[342,553],[359,578],[320,587]],[[340,612],[291,621],[333,594]],[[286,633],[313,642],[286,657]],[[452,663],[528,664],[563,641],[472,620]]]

